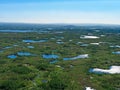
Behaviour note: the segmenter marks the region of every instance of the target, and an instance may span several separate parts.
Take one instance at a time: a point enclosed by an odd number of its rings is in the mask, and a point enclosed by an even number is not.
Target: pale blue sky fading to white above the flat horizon
[[[0,0],[0,22],[120,24],[120,0]]]

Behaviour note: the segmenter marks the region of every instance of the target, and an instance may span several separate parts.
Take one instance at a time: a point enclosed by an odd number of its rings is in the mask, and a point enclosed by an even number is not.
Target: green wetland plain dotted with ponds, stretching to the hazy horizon
[[[120,73],[90,72],[111,66],[120,26],[0,24],[0,90],[119,90]]]

